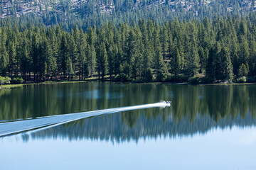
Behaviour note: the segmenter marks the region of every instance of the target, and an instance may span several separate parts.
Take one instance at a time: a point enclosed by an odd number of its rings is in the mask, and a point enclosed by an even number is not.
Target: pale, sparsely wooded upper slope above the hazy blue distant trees
[[[78,16],[86,16],[95,13],[118,13],[143,8],[150,9],[158,6],[173,13],[193,11],[194,16],[198,16],[205,8],[209,8],[215,12],[218,12],[218,9],[221,8],[227,13],[247,13],[256,9],[254,0],[1,0],[1,18],[5,18],[6,16],[21,16],[27,13],[42,15],[49,11],[63,12],[65,14],[75,13]]]

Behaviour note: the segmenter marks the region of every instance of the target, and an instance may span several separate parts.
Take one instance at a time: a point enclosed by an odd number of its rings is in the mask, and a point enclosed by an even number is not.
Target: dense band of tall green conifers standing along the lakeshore
[[[209,21],[144,19],[112,22],[87,31],[60,25],[0,28],[0,75],[26,81],[61,77],[163,81],[166,76],[206,75],[210,80],[256,75],[256,15]],[[153,76],[153,77],[152,77]]]

